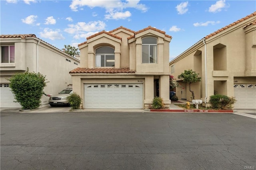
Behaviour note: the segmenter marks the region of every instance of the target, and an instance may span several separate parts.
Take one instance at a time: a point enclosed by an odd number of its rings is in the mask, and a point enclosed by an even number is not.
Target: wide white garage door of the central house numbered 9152
[[[85,84],[84,107],[142,109],[143,84]]]

